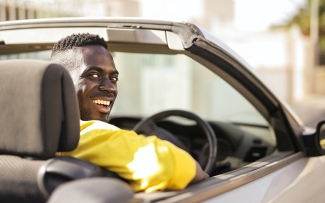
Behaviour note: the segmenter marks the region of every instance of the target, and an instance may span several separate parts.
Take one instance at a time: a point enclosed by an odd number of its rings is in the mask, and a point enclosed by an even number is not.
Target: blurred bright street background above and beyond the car
[[[307,125],[325,120],[325,0],[0,0],[0,21],[81,16],[196,23],[241,55]]]

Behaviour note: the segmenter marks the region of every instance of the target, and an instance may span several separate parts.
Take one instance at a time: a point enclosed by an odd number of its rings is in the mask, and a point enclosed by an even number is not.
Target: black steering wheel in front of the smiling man
[[[138,134],[156,135],[159,139],[167,140],[186,151],[184,144],[181,143],[172,133],[157,126],[158,121],[169,116],[179,116],[194,120],[202,128],[209,143],[209,158],[204,168],[204,172],[210,174],[217,157],[217,138],[210,124],[196,114],[183,110],[168,110],[159,112],[148,118],[142,119],[137,125],[134,126],[133,130]]]

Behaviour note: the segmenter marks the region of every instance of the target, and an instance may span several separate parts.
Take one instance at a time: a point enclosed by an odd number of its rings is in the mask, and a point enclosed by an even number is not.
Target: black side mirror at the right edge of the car
[[[325,120],[317,124],[315,132],[303,134],[302,141],[306,156],[325,155]]]

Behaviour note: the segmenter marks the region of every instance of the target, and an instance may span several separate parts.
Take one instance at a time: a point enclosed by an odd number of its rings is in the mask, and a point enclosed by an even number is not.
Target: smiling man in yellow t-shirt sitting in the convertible
[[[135,191],[180,190],[208,177],[187,152],[170,142],[107,123],[119,72],[104,39],[73,34],[54,45],[51,60],[69,71],[81,118],[78,147],[58,155],[106,167],[129,180]]]

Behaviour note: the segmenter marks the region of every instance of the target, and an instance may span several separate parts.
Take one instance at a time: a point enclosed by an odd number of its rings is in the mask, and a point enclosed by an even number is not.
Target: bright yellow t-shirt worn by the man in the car
[[[73,156],[105,167],[130,181],[135,191],[184,189],[196,173],[195,160],[156,136],[144,137],[101,121],[81,121]]]

